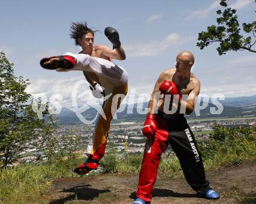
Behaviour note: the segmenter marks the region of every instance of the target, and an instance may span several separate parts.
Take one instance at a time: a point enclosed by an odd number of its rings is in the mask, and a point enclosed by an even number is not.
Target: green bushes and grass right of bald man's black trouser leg
[[[216,125],[207,145],[200,145],[200,151],[208,166],[206,169],[255,160],[256,125],[237,129]]]

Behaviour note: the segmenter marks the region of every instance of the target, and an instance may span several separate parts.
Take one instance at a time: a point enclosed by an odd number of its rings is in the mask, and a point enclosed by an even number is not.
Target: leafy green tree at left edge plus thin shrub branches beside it
[[[38,151],[47,155],[48,162],[61,160],[70,152],[69,146],[60,148],[59,139],[53,133],[57,127],[56,119],[49,114],[48,104],[37,105],[44,107],[42,118],[33,111],[30,94],[25,92],[29,85],[23,77],[15,77],[13,64],[8,61],[3,52],[0,53],[0,159],[1,167],[7,166],[18,158],[18,153],[26,150],[27,146],[37,147]],[[38,140],[38,137],[41,140]],[[62,137],[62,142],[70,140]],[[33,144],[34,141],[34,144]],[[70,144],[72,140],[70,140]],[[38,161],[40,158],[38,157]]]

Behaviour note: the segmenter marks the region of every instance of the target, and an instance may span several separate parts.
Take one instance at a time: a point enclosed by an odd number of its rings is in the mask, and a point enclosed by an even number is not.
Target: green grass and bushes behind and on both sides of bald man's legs
[[[237,165],[243,161],[256,160],[256,125],[248,128],[224,128],[216,125],[207,144],[198,145],[205,170]],[[100,164],[103,173],[139,173],[143,154],[128,154],[120,159],[117,152],[108,152]],[[183,172],[176,156],[163,158],[159,165],[159,176],[182,177]]]

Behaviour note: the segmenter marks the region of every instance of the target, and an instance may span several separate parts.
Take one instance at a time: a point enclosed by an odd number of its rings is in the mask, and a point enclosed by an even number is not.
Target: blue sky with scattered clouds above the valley
[[[254,0],[230,0],[229,5],[237,9],[240,23],[255,20]],[[216,24],[219,8],[219,1],[3,1],[0,50],[15,63],[16,75],[30,79],[29,93],[62,94],[63,103],[69,103],[74,83],[83,74],[44,70],[39,61],[79,52],[69,37],[70,23],[87,21],[101,31],[95,35],[96,45],[112,46],[103,34],[105,27],[119,31],[127,58],[115,63],[128,72],[130,89],[136,93],[151,93],[161,71],[174,67],[177,53],[190,50],[201,93],[254,95],[255,53],[219,56],[217,44],[204,50],[196,46],[198,32]]]

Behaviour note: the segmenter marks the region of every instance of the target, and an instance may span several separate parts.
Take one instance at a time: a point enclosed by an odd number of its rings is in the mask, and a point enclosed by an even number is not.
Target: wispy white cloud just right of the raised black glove
[[[172,33],[161,41],[149,43],[134,43],[133,45],[125,45],[127,56],[157,56],[171,46],[176,46],[191,41],[192,37],[182,38],[177,33]]]

